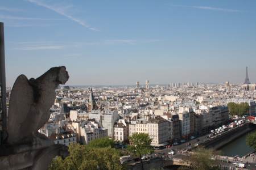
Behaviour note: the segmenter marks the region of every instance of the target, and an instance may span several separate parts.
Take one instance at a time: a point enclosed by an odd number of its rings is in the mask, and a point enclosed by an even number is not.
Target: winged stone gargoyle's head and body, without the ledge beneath
[[[68,78],[64,66],[53,67],[37,79],[18,76],[10,96],[7,144],[27,143],[37,136],[49,119],[57,86]]]

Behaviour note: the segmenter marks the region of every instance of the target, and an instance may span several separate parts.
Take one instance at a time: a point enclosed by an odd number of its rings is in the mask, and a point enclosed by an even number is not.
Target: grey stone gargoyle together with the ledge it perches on
[[[49,120],[56,88],[68,78],[65,66],[52,67],[36,79],[18,76],[10,95],[0,169],[46,169],[54,156],[67,154],[66,146],[55,145],[38,130]]]

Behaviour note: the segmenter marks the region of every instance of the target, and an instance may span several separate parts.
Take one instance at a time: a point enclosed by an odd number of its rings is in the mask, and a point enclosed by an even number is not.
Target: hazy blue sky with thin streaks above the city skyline
[[[256,82],[256,1],[0,0],[6,80],[65,65],[67,84]]]

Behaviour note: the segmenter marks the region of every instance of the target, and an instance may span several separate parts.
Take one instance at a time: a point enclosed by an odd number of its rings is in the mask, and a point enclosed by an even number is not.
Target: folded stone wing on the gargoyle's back
[[[16,143],[26,136],[22,132],[22,123],[28,118],[28,112],[34,101],[33,90],[25,75],[19,75],[16,79],[9,101],[9,112],[7,122],[8,143]],[[27,129],[30,131],[30,129]]]

